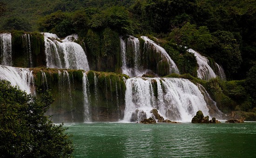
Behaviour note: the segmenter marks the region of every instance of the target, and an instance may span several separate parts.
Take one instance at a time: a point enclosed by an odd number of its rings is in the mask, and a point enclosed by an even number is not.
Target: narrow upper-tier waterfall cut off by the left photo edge
[[[11,33],[0,33],[0,64],[12,66]]]

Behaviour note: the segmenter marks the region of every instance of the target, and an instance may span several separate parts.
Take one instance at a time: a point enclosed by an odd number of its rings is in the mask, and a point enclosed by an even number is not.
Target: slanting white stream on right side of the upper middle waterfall
[[[168,55],[168,53],[159,45],[155,44],[154,41],[152,41],[151,39],[149,39],[148,37],[146,36],[141,36],[141,38],[145,41],[145,46],[150,46],[150,45],[153,45],[155,47],[155,50],[158,52],[158,53],[161,53],[162,55],[162,60],[167,60],[168,61],[168,64],[169,64],[169,70],[170,70],[170,74],[171,73],[176,73],[176,74],[179,74],[179,70],[176,66],[176,64],[174,63],[174,61],[171,59],[171,57]],[[149,43],[149,44],[147,44]]]

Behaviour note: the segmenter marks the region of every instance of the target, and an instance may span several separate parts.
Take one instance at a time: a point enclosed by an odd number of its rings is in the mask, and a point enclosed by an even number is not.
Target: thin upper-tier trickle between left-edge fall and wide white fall
[[[22,41],[23,41],[23,47],[25,54],[27,55],[28,61],[29,61],[29,67],[33,67],[33,62],[32,62],[32,51],[31,51],[31,41],[30,41],[30,36],[29,34],[23,34],[22,35]]]

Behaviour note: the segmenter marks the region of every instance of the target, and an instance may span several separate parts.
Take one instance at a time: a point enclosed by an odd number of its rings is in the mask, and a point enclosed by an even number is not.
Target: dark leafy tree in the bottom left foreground
[[[0,81],[0,157],[68,157],[72,142],[63,124],[57,126],[45,116],[54,101],[49,93],[41,101],[10,82]]]

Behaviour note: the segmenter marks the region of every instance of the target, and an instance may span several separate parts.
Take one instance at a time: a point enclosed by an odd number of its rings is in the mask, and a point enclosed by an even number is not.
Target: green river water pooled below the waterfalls
[[[75,158],[256,158],[256,122],[66,126]]]

